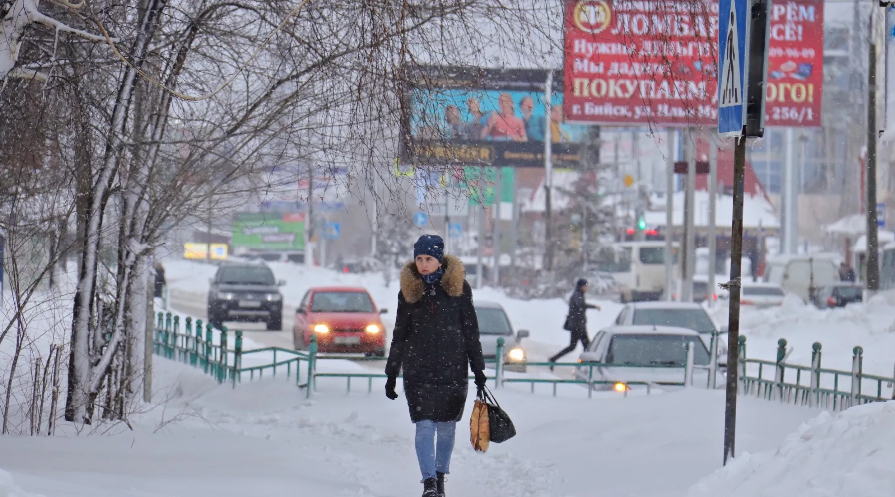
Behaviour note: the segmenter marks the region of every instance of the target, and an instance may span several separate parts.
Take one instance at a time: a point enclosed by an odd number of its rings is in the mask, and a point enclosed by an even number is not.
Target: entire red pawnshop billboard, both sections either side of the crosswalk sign
[[[820,126],[823,1],[775,2],[765,122]],[[717,0],[569,0],[568,122],[718,123]]]

